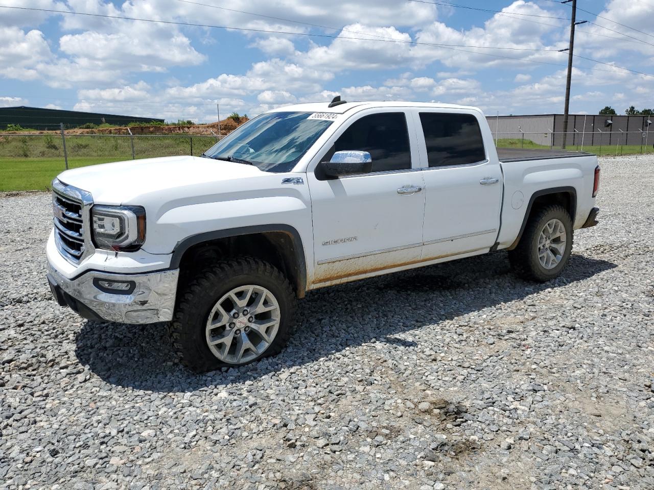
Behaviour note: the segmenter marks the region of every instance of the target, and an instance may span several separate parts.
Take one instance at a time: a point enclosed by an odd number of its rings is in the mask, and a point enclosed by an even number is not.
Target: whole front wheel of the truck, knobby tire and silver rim
[[[169,335],[182,363],[205,372],[281,351],[296,299],[284,275],[252,257],[220,261],[179,292]]]

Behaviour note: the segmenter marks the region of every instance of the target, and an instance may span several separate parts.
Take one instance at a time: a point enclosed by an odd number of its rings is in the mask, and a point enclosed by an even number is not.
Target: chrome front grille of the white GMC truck
[[[55,242],[61,255],[73,263],[79,263],[90,246],[86,230],[92,202],[86,191],[58,180],[52,183]]]

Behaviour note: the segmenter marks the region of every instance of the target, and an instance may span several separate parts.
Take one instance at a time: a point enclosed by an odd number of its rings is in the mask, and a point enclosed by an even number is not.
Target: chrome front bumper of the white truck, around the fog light
[[[48,282],[61,306],[83,318],[120,323],[156,323],[173,319],[179,269],[145,274],[113,274],[90,270],[68,279],[48,261]],[[99,280],[133,283],[124,293],[100,289]]]

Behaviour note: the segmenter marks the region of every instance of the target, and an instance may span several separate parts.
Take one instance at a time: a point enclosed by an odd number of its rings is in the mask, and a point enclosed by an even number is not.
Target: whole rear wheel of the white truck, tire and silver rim
[[[552,204],[529,218],[509,261],[523,278],[545,282],[560,276],[571,252],[572,219],[563,206]]]

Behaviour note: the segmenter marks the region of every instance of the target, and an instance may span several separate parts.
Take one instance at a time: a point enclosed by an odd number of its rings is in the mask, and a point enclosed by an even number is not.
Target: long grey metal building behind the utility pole
[[[520,139],[545,146],[561,146],[563,114],[529,116],[487,116],[490,130],[498,139]],[[568,137],[570,146],[599,144],[654,144],[654,116],[602,116],[570,114]],[[649,134],[652,133],[652,134]]]

